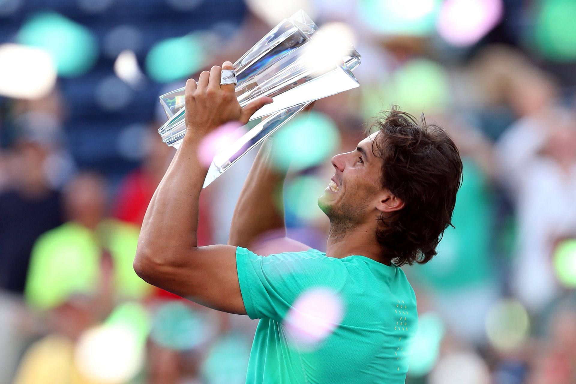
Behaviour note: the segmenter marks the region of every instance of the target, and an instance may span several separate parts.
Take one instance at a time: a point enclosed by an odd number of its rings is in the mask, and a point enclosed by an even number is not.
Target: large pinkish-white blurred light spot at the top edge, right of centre
[[[494,28],[502,12],[502,0],[446,0],[438,15],[438,33],[452,45],[472,45]]]

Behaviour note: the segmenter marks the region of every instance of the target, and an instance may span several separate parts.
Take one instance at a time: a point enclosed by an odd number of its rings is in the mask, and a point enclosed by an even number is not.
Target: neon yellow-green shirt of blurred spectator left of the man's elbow
[[[113,260],[113,284],[120,298],[139,299],[150,292],[132,267],[138,228],[107,219],[98,225],[100,238]],[[90,295],[101,284],[102,245],[96,232],[67,222],[41,235],[30,257],[24,291],[28,305],[38,310],[54,308],[75,294]]]

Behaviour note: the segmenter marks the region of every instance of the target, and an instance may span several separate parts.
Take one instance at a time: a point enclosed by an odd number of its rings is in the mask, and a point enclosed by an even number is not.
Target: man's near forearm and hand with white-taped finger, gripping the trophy
[[[190,273],[192,268],[190,255],[198,248],[198,200],[208,172],[198,159],[199,143],[229,121],[248,123],[258,109],[274,101],[260,97],[241,107],[235,83],[222,83],[222,69],[233,70],[232,62],[202,71],[198,82],[186,82],[186,135],[146,210],[134,260],[138,275],[154,285],[174,287],[178,271]]]

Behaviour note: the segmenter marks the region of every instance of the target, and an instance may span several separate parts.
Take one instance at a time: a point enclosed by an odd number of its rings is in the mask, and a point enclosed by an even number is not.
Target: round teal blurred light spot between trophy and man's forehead
[[[320,112],[299,114],[274,134],[278,142],[273,164],[302,170],[325,161],[340,145],[336,123]]]

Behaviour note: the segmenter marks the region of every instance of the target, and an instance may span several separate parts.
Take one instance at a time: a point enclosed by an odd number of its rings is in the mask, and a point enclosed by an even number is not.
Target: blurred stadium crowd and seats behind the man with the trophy
[[[532,47],[518,32],[544,28],[538,6],[547,4],[556,8],[540,12],[557,17],[551,22],[557,25],[565,2],[479,2],[499,5],[498,17],[464,43],[450,40],[441,25],[435,33],[386,30],[392,23],[384,18],[385,26],[374,26],[365,13],[378,3],[370,1],[296,1],[295,9],[275,1],[220,1],[237,7],[236,25],[221,22],[218,6],[200,0],[142,3],[146,10],[154,3],[167,20],[200,13],[203,25],[213,28],[200,39],[218,48],[177,78],[154,77],[149,66],[147,83],[142,72],[130,82],[116,71],[118,83],[107,83],[108,104],[96,97],[93,110],[74,104],[92,92],[82,88],[92,81],[89,70],[59,80],[41,96],[0,93],[0,383],[244,382],[256,322],[149,286],[132,269],[147,204],[175,153],[157,133],[166,117],[156,97],[213,64],[240,58],[283,17],[306,6],[320,25],[338,21],[353,29],[361,86],[317,101],[307,123],[294,119],[308,125],[291,131],[286,143],[305,159],[296,159],[304,166],[291,170],[284,187],[289,237],[325,251],[329,223],[316,199],[334,173],[331,155],[353,150],[370,117],[391,104],[417,118],[424,112],[457,143],[464,180],[438,255],[404,267],[419,310],[407,383],[576,383],[576,41],[555,40],[563,45],[554,50],[542,37]],[[414,3],[414,21],[420,7],[435,2],[407,3]],[[92,17],[114,6],[112,0],[78,4]],[[17,15],[12,19],[10,6]],[[38,11],[26,6],[0,0],[0,24],[21,25]],[[63,9],[82,23],[71,6]],[[142,15],[132,17],[146,20]],[[169,25],[154,24],[146,33],[164,36]],[[576,36],[572,25],[562,28]],[[12,41],[0,35],[0,50]],[[142,100],[111,114],[123,87]],[[98,136],[115,119],[131,125],[116,132],[118,138],[109,130]],[[116,157],[102,157],[111,147]],[[228,241],[255,154],[204,189],[200,246]]]

